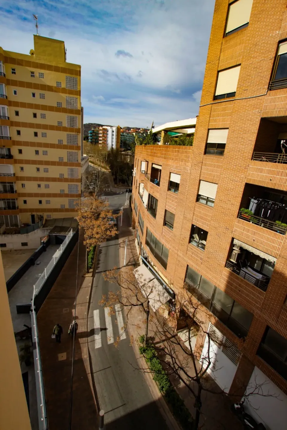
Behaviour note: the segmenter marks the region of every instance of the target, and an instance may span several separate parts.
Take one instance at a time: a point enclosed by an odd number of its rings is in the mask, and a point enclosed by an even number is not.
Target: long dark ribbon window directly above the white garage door
[[[189,266],[185,283],[187,290],[238,338],[247,336],[253,319],[251,312]]]

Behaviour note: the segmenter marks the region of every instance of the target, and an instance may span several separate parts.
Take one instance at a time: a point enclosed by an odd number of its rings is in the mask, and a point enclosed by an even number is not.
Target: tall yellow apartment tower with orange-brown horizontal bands
[[[0,224],[73,217],[80,198],[80,65],[34,35],[30,55],[0,47]]]

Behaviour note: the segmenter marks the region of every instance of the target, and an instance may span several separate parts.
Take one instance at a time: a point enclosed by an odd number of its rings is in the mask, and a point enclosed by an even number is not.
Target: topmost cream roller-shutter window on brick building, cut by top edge
[[[229,6],[226,35],[235,33],[249,23],[253,0],[238,0]]]

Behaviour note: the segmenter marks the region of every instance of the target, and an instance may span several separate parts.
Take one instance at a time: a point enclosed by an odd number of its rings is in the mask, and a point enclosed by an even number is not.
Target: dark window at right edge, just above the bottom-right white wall
[[[267,326],[257,355],[287,380],[287,339]]]

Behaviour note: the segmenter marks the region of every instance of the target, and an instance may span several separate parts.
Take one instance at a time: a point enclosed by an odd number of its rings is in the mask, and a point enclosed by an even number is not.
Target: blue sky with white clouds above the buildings
[[[198,114],[214,0],[0,0],[1,46],[64,40],[84,122],[151,126]]]

